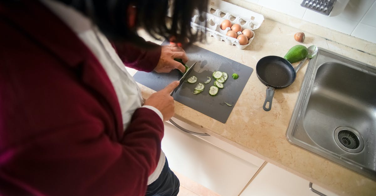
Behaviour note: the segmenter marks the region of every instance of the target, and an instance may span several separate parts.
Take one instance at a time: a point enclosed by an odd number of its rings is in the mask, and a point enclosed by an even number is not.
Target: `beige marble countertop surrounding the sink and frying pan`
[[[239,50],[235,46],[227,45],[212,37],[208,37],[205,44],[197,43],[196,45],[255,69],[256,63],[262,57],[268,55],[283,57],[291,47],[300,44],[293,38],[294,34],[299,31],[294,27],[265,19],[261,27],[255,30],[252,43],[244,50]],[[376,66],[374,55],[306,33],[306,39],[302,45],[309,47],[312,44]],[[376,52],[373,51],[374,53]],[[294,66],[297,64],[294,63]],[[226,124],[178,102],[175,102],[174,116],[189,124],[201,126],[212,136],[223,139],[339,195],[375,195],[376,181],[287,141],[285,134],[307,64],[308,61],[297,73],[293,84],[275,90],[273,106],[269,112],[262,109],[266,86],[258,80],[254,70],[239,100],[233,106]],[[154,92],[143,85],[140,87],[144,98]]]

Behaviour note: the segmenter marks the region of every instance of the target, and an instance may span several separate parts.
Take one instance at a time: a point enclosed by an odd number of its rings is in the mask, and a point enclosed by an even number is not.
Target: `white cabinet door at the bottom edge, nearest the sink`
[[[327,196],[337,196],[314,184],[313,188]],[[267,163],[240,196],[318,196],[309,190],[309,181],[280,167]]]

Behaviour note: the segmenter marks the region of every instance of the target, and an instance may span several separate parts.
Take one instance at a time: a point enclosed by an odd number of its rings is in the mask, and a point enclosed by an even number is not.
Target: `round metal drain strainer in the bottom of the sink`
[[[356,153],[364,147],[364,141],[358,131],[351,127],[341,126],[334,130],[334,140],[344,151]]]

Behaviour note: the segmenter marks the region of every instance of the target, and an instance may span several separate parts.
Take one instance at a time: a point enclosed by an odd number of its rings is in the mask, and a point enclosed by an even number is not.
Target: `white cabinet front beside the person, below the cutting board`
[[[259,169],[171,124],[164,125],[162,150],[170,168],[220,195],[238,196]]]

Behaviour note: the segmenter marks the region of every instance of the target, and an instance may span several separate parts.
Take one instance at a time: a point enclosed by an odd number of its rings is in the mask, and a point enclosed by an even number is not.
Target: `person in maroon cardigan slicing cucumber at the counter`
[[[171,26],[168,3],[0,2],[0,195],[177,194],[161,139],[178,81],[144,101],[124,67],[185,70],[182,48],[136,33],[202,40],[190,17],[207,1],[173,1]]]

